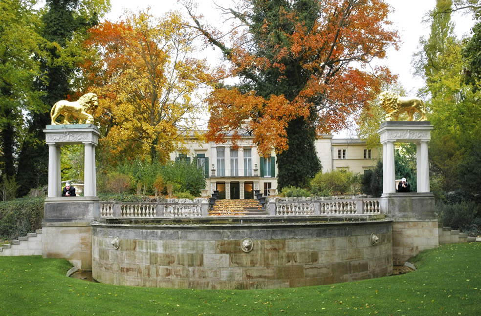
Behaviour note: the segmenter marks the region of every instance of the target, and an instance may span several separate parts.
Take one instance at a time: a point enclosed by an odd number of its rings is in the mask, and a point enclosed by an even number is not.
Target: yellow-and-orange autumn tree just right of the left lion
[[[90,30],[86,84],[99,96],[94,117],[112,161],[168,161],[197,130],[202,87],[214,77],[193,57],[196,33],[187,26],[178,13],[154,18],[147,10]]]

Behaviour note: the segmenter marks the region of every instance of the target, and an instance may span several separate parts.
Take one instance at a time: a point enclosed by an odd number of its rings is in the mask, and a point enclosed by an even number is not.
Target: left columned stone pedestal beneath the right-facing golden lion
[[[92,268],[92,227],[100,217],[95,172],[95,146],[100,134],[93,124],[47,125],[48,197],[42,222],[42,257],[66,258],[78,269]],[[85,146],[84,197],[62,197],[60,148]]]

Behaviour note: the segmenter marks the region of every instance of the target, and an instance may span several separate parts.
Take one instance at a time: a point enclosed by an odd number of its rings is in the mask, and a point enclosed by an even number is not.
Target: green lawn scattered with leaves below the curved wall
[[[63,259],[0,257],[0,315],[481,315],[481,243],[450,244],[418,271],[275,290],[136,288],[67,278]]]

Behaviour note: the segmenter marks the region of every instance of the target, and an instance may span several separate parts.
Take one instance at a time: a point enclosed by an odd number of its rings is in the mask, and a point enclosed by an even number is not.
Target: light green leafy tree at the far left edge
[[[34,79],[40,80],[38,12],[33,0],[0,2],[0,174],[15,175],[18,148],[25,136],[24,112],[45,110]]]

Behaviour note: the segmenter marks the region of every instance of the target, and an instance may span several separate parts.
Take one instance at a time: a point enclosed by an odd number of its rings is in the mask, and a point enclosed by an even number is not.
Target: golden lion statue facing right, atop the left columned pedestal
[[[77,101],[70,102],[67,100],[61,100],[52,106],[50,111],[50,118],[52,119],[52,125],[70,124],[70,116],[79,119],[79,124],[93,124],[93,116],[86,112],[87,107],[90,105],[97,106],[99,99],[94,93],[86,93],[80,97]],[[64,116],[62,123],[57,123],[55,120],[60,116]]]

